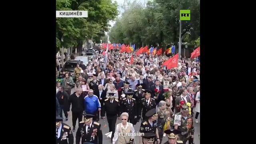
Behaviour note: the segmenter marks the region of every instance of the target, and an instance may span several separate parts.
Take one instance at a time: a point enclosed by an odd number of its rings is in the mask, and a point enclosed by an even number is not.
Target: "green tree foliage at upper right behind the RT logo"
[[[180,10],[186,9],[191,10],[191,20],[182,21],[182,42],[191,43],[200,36],[198,0],[153,0],[146,7],[128,3],[128,9],[110,30],[109,40],[136,46],[142,42],[144,46],[159,44],[162,48],[167,44],[178,45]]]

